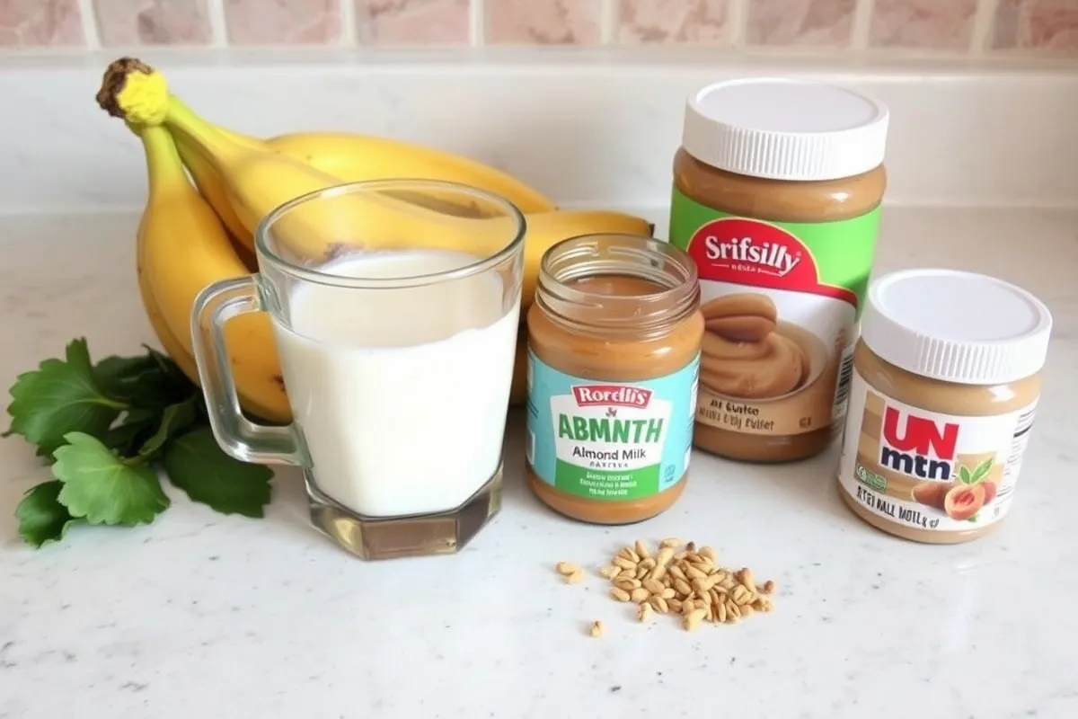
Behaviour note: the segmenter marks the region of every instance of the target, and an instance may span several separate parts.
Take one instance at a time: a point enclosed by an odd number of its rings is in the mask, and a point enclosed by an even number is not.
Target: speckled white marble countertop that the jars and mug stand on
[[[0,219],[5,386],[72,336],[95,357],[153,341],[136,222]],[[928,547],[876,531],[839,499],[833,448],[782,467],[697,453],[662,516],[573,523],[527,492],[513,416],[503,510],[456,556],[353,558],[309,527],[287,470],[263,520],[169,489],[150,526],[78,527],[36,551],[12,512],[47,469],[13,438],[0,441],[0,717],[1078,716],[1078,212],[887,208],[877,272],[914,265],[998,275],[1054,313],[1019,497],[993,536]],[[566,585],[552,570],[671,535],[774,579],[775,611],[694,633],[641,625],[598,578]],[[600,639],[586,635],[596,619]]]

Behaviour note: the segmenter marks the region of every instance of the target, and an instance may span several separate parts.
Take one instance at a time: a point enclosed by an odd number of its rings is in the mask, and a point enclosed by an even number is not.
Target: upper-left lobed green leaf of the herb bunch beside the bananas
[[[71,341],[66,357],[45,360],[38,370],[18,375],[11,387],[8,434],[22,434],[38,445],[40,455],[64,444],[67,432],[101,437],[127,409],[98,387],[85,340]]]

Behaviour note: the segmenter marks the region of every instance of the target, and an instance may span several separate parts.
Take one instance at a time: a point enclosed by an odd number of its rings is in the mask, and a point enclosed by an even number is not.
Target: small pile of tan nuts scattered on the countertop
[[[569,584],[584,580],[583,570],[571,562],[558,562],[555,569]],[[654,554],[636,540],[622,548],[599,575],[610,581],[611,597],[637,605],[638,621],[648,621],[652,613],[677,613],[689,632],[704,621],[736,624],[755,612],[771,611],[769,595],[775,592],[775,582],[757,584],[747,567],[734,570],[716,564],[710,547],[696,549],[694,542],[673,537],[660,542]],[[602,627],[602,622],[595,622],[591,636],[600,636]]]

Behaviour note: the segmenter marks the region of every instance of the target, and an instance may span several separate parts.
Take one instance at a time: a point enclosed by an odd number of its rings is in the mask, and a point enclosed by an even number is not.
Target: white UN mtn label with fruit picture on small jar
[[[1036,402],[981,417],[928,412],[856,371],[851,392],[839,482],[855,503],[925,531],[969,531],[1007,514]]]

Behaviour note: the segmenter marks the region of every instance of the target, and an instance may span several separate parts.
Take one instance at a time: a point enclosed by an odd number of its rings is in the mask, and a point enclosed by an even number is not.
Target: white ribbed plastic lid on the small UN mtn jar
[[[869,288],[861,338],[881,359],[944,382],[993,385],[1040,371],[1052,315],[1001,279],[957,269],[907,269]]]

